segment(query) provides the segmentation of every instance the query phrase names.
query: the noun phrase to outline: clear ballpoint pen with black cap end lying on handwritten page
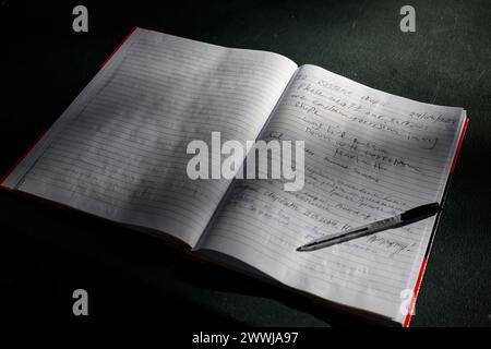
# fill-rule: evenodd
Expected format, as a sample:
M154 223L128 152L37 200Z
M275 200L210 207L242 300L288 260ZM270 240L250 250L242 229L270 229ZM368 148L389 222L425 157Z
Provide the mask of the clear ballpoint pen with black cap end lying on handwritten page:
M406 210L397 216L373 221L362 227L349 229L335 234L322 237L310 241L297 249L297 251L308 252L332 246L349 240L370 236L372 233L394 229L412 222L429 218L442 210L439 203L427 204Z

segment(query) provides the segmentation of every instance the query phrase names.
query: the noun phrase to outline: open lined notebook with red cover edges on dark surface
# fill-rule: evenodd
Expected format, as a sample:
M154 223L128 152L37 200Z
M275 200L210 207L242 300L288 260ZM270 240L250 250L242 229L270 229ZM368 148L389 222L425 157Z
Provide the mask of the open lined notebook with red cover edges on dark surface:
M313 238L442 203L465 110L277 53L135 28L2 186L407 325L438 217L309 253ZM191 180L192 140L306 143L306 182Z

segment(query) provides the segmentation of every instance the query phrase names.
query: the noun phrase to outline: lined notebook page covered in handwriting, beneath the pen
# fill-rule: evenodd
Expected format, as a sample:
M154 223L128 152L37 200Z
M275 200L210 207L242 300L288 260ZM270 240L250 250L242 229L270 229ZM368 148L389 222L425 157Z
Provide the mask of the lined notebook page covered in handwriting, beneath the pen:
M301 67L264 140L306 141L306 185L238 181L203 249L277 280L403 322L434 218L314 252L312 239L440 202L463 110L411 101Z

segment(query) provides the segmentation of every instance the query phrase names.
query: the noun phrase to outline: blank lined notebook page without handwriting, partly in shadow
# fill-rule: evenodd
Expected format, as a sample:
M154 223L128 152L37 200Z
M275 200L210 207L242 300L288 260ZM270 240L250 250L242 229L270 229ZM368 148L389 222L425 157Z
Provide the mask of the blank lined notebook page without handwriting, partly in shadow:
M254 140L296 68L136 29L7 185L192 246L229 182L190 180L188 143Z

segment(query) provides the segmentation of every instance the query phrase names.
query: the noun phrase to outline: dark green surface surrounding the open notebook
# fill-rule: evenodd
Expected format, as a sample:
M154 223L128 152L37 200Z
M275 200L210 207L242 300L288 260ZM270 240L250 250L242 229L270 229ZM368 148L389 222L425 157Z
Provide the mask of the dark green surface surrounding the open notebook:
M0 0L0 173L61 115L134 25L283 53L470 117L412 326L491 325L491 1ZM72 9L88 8L88 33ZM416 9L416 33L399 9ZM184 258L160 240L0 192L0 320L25 324L360 325ZM72 315L88 291L89 316Z

